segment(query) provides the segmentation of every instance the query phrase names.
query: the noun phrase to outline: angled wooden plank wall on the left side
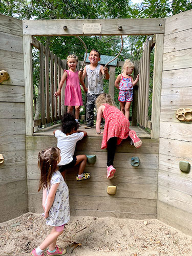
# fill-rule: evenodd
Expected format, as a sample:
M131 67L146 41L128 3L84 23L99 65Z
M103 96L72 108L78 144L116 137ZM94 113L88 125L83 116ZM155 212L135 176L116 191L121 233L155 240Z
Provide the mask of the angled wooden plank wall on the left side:
M28 209L25 152L25 103L22 20L0 14L0 222Z

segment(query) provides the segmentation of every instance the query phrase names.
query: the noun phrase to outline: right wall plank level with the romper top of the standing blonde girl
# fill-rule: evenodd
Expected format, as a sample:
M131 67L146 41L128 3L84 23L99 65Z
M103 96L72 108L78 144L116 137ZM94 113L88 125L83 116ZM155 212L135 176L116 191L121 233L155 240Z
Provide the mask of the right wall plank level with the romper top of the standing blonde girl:
M191 72L192 72L191 68L163 71L162 89L192 87Z

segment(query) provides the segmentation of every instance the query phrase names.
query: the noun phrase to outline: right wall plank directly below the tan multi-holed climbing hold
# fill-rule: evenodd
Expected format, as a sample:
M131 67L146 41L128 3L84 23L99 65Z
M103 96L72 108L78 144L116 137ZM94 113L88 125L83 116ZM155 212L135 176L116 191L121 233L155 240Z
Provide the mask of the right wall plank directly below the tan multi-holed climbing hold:
M160 122L160 137L192 142L191 123Z

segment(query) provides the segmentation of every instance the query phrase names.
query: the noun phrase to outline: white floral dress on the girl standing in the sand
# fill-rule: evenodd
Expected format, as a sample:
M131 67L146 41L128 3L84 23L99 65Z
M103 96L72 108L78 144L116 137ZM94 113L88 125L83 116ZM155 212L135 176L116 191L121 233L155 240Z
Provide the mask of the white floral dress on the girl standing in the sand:
M49 210L49 217L46 219L46 224L50 226L62 226L70 220L70 208L69 208L69 189L66 182L63 180L62 175L58 170L53 173L51 177L51 185L57 184L57 191L55 193L55 199ZM50 191L47 189L47 198ZM47 204L46 198L46 204Z

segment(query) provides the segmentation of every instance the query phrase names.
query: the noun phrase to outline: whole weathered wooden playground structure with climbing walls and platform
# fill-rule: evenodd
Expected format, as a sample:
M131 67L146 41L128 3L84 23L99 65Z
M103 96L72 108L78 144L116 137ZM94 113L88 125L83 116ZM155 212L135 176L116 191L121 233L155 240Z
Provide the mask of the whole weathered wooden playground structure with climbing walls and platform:
M192 174L191 170L181 172L179 165L181 161L192 162L192 126L191 122L179 121L175 114L180 108L192 108L189 76L192 71L192 10L155 19L22 21L0 14L0 20L0 70L9 73L9 79L0 83L0 154L4 157L0 164L0 221L27 211L42 211L42 195L37 193L38 152L57 143L53 136L55 126L36 133L34 127L60 119L63 97L57 101L53 92L66 62L33 36L155 35L152 119L148 120L147 116L147 70L152 42L148 43L140 60L135 111L136 122L142 127L151 127L151 134L136 124L132 126L143 145L136 149L129 139L123 141L115 156L115 178L106 180L106 151L100 150L102 137L89 131L88 137L78 142L76 154L96 155L96 162L87 164L86 171L92 175L88 181L77 182L74 170L66 174L71 214L157 218L191 235ZM89 33L83 26L89 28ZM41 62L41 118L38 120L33 118L32 46L39 50ZM109 93L112 96L114 71L115 68L110 67ZM139 157L138 167L131 165L132 157ZM106 193L108 185L117 186L114 196Z

